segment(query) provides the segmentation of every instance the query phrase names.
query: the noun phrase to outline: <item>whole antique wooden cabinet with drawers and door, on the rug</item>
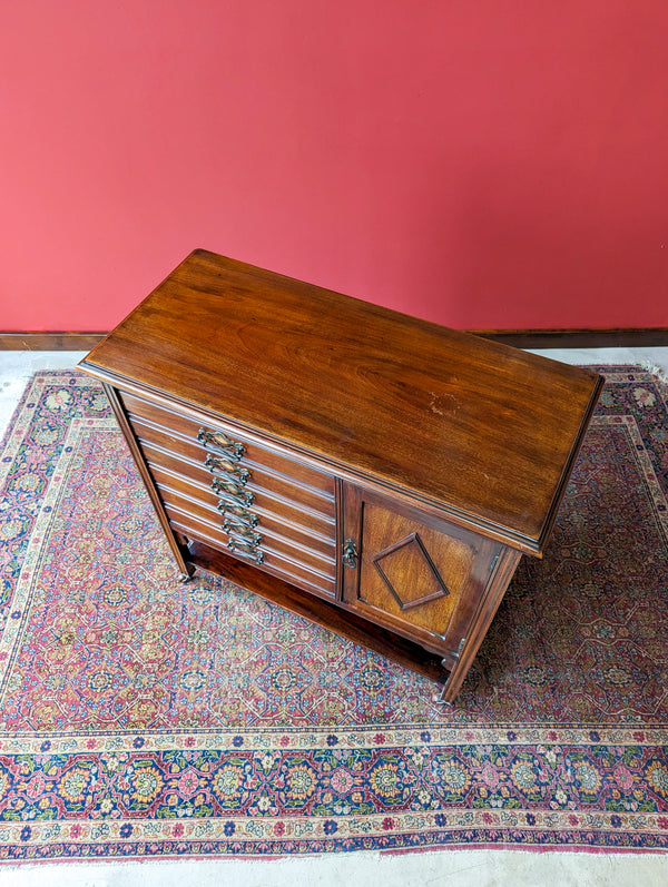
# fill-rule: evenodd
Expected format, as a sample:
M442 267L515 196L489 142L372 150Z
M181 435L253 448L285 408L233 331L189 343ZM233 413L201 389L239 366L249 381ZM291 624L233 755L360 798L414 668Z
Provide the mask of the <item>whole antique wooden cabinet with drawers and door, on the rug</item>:
M81 363L184 578L233 581L451 702L547 544L593 373L204 250Z

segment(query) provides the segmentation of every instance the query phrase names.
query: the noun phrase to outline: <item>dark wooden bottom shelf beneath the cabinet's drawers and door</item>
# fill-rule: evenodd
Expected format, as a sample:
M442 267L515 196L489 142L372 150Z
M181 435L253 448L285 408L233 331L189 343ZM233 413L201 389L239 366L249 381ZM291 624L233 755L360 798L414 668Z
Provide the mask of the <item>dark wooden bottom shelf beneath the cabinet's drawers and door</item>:
M373 650L393 662L399 662L432 681L442 684L448 679L449 672L444 670L441 657L334 603L306 594L281 579L263 573L252 564L243 563L202 542L193 541L188 543L184 556L187 564L222 575L236 585L259 594L285 610Z

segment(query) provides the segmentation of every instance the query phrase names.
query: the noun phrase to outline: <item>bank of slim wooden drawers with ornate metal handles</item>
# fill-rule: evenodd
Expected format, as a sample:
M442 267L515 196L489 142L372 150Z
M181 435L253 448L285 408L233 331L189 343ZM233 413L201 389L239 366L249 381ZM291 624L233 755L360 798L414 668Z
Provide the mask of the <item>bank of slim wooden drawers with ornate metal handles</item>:
M312 593L335 597L331 475L225 426L120 397L173 529Z

